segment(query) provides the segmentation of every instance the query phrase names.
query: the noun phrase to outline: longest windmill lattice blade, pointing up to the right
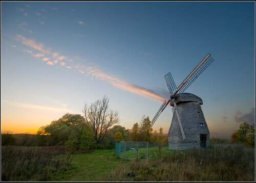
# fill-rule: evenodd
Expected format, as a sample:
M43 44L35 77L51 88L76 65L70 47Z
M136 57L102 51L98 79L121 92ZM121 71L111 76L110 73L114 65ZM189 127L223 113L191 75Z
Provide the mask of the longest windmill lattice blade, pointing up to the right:
M182 86L180 89L180 93L183 93L190 85L193 83L197 77L214 61L211 57L208 59L197 69L197 71L189 77L186 84Z

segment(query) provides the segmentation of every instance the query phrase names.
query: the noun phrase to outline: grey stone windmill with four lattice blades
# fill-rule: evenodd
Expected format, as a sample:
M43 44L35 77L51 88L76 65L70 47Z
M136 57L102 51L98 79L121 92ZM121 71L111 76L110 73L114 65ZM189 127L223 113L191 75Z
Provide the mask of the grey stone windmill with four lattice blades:
M170 72L164 76L170 93L170 99L167 102L164 100L153 118L151 126L154 125L161 112L170 103L173 111L173 119L168 133L169 149L184 150L193 147L208 146L209 129L200 107L203 101L198 96L191 93L184 93L184 91L213 61L214 59L210 57L210 54L207 54L195 69L188 74L178 88Z

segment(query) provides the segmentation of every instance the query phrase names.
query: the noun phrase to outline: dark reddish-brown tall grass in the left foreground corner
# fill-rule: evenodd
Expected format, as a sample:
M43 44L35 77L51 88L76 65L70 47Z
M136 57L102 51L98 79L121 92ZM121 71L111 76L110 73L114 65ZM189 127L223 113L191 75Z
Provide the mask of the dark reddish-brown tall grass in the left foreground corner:
M47 181L67 170L70 153L63 147L1 147L2 181Z

